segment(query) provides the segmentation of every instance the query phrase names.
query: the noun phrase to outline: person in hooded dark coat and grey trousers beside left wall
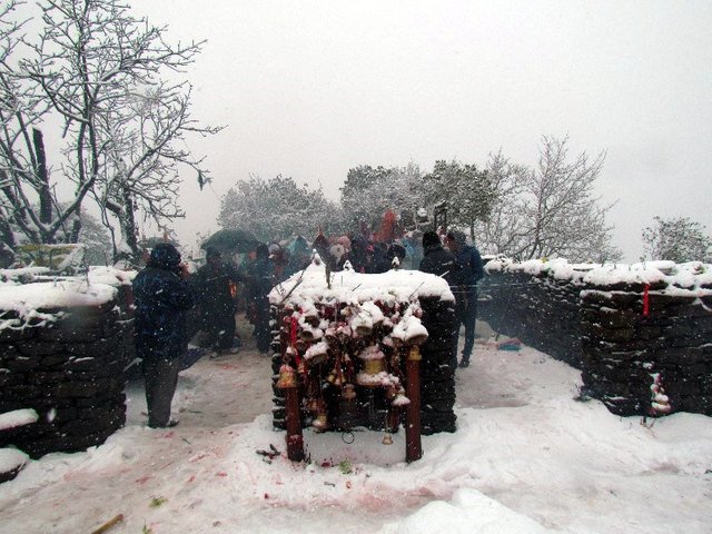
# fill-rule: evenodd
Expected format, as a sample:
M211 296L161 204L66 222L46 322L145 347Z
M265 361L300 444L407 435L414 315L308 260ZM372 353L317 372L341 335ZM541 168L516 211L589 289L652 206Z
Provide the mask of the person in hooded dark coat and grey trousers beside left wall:
M170 403L178 384L180 356L188 346L186 312L196 304L188 271L169 243L151 250L134 279L136 353L144 360L148 426L175 426Z

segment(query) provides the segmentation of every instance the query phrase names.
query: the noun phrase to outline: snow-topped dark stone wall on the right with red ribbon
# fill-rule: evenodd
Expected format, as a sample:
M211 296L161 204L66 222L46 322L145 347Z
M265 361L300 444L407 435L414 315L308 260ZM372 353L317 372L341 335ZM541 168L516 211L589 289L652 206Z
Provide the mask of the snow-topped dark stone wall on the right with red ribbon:
M614 414L712 415L710 266L490 266L479 318L580 368Z

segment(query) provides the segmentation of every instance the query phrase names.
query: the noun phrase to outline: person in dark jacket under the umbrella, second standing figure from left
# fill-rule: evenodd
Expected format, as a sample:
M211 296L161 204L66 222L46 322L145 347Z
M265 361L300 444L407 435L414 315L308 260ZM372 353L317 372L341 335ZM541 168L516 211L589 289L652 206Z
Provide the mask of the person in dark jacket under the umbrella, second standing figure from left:
M235 343L235 297L233 287L244 281L237 267L222 261L220 251L206 250L207 263L192 277L198 298L200 328L206 346L215 353L233 350Z

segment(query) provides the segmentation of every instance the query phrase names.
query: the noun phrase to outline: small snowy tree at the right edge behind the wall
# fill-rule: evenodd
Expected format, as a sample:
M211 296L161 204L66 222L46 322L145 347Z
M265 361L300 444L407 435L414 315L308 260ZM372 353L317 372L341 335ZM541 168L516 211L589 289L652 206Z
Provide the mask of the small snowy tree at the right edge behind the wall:
M705 235L704 226L700 222L689 217L654 217L653 220L655 225L643 229L642 235L649 259L712 261L712 239Z

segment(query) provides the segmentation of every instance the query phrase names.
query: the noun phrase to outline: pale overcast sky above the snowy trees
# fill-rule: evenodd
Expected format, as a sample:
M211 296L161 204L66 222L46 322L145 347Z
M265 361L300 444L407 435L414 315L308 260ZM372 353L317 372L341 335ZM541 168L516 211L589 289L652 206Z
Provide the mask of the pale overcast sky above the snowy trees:
M606 151L597 182L625 259L653 217L712 234L710 1L134 1L170 42L207 39L194 116L227 128L191 149L179 237L217 229L219 198L281 174L337 199L349 168L534 166L543 135Z

